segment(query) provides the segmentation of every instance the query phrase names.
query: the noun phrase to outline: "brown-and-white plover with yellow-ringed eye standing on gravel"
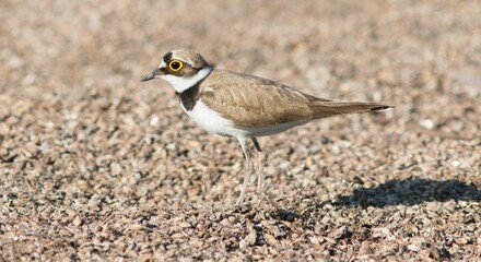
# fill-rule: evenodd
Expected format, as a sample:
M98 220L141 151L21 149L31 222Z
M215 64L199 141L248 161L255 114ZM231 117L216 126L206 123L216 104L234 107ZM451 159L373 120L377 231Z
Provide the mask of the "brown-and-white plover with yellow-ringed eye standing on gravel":
M254 164L247 148L257 153L257 192L263 193L266 154L258 136L286 131L313 120L361 112L378 112L394 106L366 102L319 98L263 78L215 69L191 49L171 50L141 82L162 79L175 90L187 116L208 132L235 138L244 153L245 174L235 205L242 205Z

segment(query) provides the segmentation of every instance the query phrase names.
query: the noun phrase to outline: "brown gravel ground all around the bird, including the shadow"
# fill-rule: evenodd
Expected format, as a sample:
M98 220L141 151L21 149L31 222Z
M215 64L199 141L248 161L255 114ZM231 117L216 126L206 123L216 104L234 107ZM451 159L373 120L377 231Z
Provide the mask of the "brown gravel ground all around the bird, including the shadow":
M0 2L0 261L481 260L479 1ZM218 68L386 114L260 139L243 156L174 91Z

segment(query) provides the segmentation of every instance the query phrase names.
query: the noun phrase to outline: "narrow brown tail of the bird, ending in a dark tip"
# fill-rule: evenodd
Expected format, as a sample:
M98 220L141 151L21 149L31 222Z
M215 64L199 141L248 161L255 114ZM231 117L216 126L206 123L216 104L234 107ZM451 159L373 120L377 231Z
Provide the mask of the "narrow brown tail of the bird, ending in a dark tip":
M328 118L338 115L387 111L394 106L365 102L316 100L309 104L313 119Z

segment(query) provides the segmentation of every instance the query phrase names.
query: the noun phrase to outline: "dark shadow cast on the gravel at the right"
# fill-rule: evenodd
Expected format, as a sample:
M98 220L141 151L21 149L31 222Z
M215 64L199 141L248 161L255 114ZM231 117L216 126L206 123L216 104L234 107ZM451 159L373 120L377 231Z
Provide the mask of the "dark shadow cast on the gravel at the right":
M481 201L481 190L472 182L455 179L430 180L409 178L390 180L375 188L355 189L350 195L338 195L336 205L384 207L388 205L417 205L424 202Z

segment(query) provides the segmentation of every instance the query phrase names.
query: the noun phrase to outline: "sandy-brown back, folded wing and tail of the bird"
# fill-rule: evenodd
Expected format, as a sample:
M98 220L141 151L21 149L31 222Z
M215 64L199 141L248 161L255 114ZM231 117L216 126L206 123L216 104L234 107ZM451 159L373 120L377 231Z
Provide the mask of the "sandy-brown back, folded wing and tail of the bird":
M305 123L336 115L387 109L372 103L337 102L303 94L254 75L213 70L200 85L202 102L239 128Z

